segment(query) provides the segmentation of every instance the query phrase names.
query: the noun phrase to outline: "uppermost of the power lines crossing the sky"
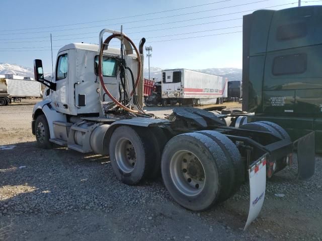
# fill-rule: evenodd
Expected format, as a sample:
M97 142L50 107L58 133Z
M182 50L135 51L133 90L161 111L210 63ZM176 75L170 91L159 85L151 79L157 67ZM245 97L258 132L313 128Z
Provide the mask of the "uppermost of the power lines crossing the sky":
M179 9L164 10L164 11L159 11L159 12L139 14L139 15L132 15L132 16L127 16L127 17L119 17L119 18L114 18L114 19L98 20L98 21L92 21L92 22L83 22L83 23L75 23L75 24L64 24L64 25L46 26L46 27L38 27L38 28L0 30L0 32L5 32L5 31L6 32L7 31L20 31L20 30L32 30L32 29L45 29L45 28L56 28L56 27L72 26L72 25L80 25L80 24L92 24L92 23L99 23L99 22L105 22L105 21L111 21L111 20L127 19L127 18L134 18L134 17L146 16L146 15L151 15L151 14L160 14L160 13L172 12L172 11L183 10L183 9L191 9L191 8L202 7L202 6L212 5L212 4L219 4L219 3L224 3L224 2L230 2L230 1L232 1L232 0L223 0L223 1L219 1L219 2L212 2L212 3L208 3L208 4L194 5L194 6L184 7L184 8L179 8Z

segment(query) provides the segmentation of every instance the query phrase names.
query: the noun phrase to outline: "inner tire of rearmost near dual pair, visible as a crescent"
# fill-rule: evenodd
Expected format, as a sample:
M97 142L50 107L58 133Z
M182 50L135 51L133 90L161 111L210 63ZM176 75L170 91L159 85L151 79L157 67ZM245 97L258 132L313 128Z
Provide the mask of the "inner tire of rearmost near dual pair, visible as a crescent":
M200 131L202 135L211 138L215 143L219 145L221 150L225 153L229 164L230 175L232 176L231 186L226 192L222 193L220 200L225 201L240 188L241 184L245 181L245 167L241 162L240 153L236 145L225 135L215 131Z

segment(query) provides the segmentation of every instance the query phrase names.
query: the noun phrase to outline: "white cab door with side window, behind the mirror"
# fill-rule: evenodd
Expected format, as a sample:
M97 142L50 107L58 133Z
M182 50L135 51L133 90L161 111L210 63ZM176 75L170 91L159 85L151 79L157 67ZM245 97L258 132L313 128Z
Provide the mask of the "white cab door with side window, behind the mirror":
M68 50L60 52L56 62L56 91L53 91L53 104L59 112L69 114L68 106Z

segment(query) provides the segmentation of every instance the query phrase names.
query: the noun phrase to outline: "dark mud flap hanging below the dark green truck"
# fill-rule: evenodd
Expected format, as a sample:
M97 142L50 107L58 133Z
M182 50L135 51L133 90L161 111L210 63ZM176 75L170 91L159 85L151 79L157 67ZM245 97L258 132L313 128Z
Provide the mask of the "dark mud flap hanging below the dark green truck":
M294 142L297 146L297 178L306 180L313 176L315 169L315 142L314 132L310 132L304 137Z

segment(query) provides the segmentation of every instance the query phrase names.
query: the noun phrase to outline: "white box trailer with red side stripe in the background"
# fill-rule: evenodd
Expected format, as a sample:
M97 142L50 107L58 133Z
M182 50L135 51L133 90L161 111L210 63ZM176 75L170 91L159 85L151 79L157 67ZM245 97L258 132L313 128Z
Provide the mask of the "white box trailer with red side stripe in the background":
M227 78L189 69L162 71L162 104L215 104L227 97Z

